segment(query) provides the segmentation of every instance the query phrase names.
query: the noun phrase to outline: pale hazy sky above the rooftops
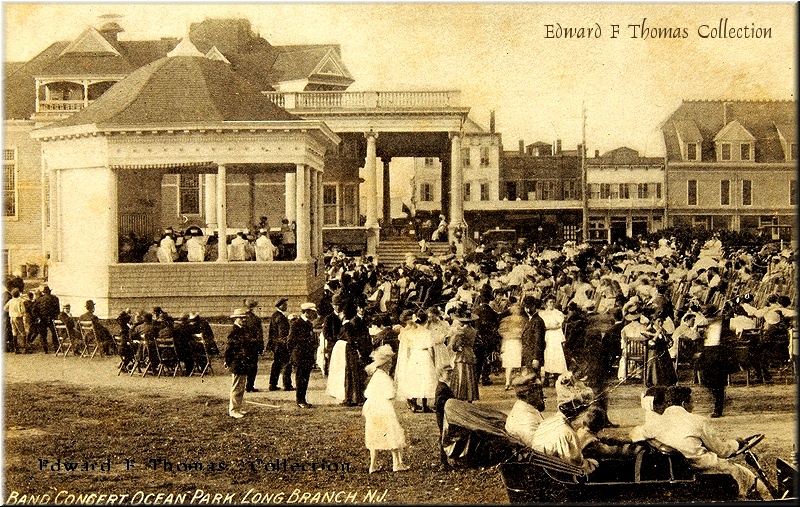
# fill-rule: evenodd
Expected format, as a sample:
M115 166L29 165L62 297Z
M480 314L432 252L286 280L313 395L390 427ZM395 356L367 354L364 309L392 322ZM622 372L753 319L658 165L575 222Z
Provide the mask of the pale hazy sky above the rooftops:
M460 90L478 124L488 128L495 111L506 150L519 140L556 139L574 149L585 109L590 156L621 146L662 156L660 124L681 100L796 100L796 9L744 2L4 2L3 50L4 61L28 60L99 27L103 14L122 16L123 40L180 37L205 18L244 17L273 45L339 44L355 78L350 90ZM721 20L728 29L769 29L771 37L701 37ZM558 37L559 26L584 37ZM644 38L642 26L679 37Z

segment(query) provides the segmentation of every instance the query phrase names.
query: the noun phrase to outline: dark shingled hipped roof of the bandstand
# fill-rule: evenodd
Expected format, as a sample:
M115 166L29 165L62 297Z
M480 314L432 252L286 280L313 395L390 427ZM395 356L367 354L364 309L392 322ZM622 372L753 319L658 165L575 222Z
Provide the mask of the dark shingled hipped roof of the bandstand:
M136 70L86 109L53 127L295 119L298 118L236 75L229 65L205 57L175 56Z

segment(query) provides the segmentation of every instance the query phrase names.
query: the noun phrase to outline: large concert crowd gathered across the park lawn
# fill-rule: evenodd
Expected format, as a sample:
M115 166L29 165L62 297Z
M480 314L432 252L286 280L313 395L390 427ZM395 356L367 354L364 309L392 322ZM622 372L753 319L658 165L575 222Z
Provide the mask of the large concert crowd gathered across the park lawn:
M480 386L490 385L490 373L497 370L505 389L517 392L508 422L520 440L542 452L570 455L574 449L543 444L548 440L542 434L574 431L589 435L584 440L594 442L597 452L616 452L597 439L600 429L615 426L607 417L614 385L638 378L648 387L673 389L679 365L688 364L713 396L712 417L720 417L731 373L747 366L756 383L768 383L770 370L797 360L790 340L796 326L795 255L769 245L726 247L718 237L688 243L661 238L636 249L572 242L560 249L524 242L479 245L466 256L412 253L398 266L329 252L320 300L303 303L298 315L288 314L287 299L279 298L266 340L262 320L253 312L257 302L245 300L231 316L224 352L233 374L229 415L244 416L244 393L258 391L258 359L270 350L269 390L294 390L298 406L311 408L306 392L311 371L318 368L328 395L345 406L363 406L371 471L377 450L391 450L394 468L401 470L402 428L389 417L391 438L376 438L373 412L388 413L385 401L395 396L415 413L433 412L443 384L456 399L479 400ZM23 303L18 290L10 294L4 310L23 351L32 336L42 336L46 346L55 318L48 298L52 295L44 289L31 298L41 300L42 309L34 310L39 317L29 326L25 307L37 304ZM182 343L186 372L197 357L188 352L191 337L210 333L207 323L207 331L193 327L198 321L192 314L173 322L159 308L136 316L123 312L118 319L128 338L169 333L176 347ZM744 337L747 365L734 355ZM213 342L213 334L208 339ZM141 347L131 350L130 364L147 353ZM117 352L124 356L119 346ZM539 390L556 387L561 419L542 420L543 399L531 388L537 384ZM683 396L676 405L688 403L685 392L675 396ZM584 405L592 410L573 424L576 407ZM387 417L381 424L389 424ZM585 457L578 464L587 471L594 466ZM752 489L749 477L731 473L743 489Z

